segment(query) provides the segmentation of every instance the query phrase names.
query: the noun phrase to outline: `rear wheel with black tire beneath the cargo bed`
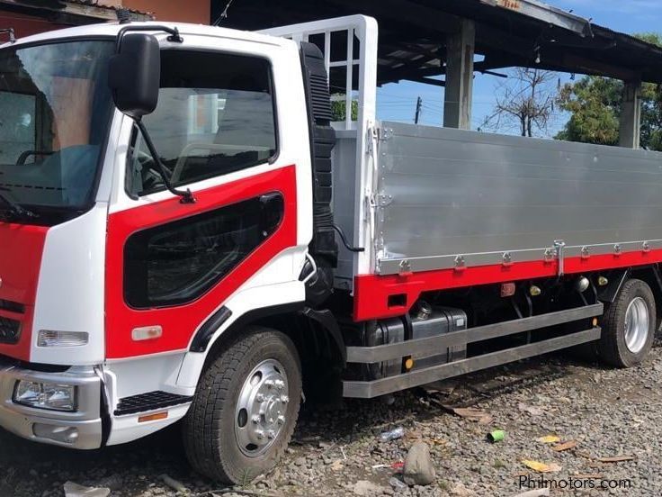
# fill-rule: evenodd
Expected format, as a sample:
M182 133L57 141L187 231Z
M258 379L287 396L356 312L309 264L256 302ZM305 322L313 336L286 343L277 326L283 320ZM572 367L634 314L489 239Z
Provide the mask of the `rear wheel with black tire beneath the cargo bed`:
M600 358L616 367L639 365L648 357L655 339L656 304L649 285L631 279L604 312Z

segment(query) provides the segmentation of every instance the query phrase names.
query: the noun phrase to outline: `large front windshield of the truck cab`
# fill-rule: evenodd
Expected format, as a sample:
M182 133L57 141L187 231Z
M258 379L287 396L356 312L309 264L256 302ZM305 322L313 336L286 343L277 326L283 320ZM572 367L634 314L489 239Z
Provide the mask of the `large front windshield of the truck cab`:
M91 203L113 53L112 41L0 50L0 194L9 202L38 214Z

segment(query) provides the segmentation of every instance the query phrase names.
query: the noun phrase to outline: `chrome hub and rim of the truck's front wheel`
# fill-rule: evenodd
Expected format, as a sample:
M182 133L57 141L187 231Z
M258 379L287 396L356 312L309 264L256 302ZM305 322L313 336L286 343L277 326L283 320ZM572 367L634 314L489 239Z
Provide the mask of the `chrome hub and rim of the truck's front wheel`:
M246 377L235 412L235 436L241 451L260 456L278 438L287 421L288 383L285 368L267 359Z

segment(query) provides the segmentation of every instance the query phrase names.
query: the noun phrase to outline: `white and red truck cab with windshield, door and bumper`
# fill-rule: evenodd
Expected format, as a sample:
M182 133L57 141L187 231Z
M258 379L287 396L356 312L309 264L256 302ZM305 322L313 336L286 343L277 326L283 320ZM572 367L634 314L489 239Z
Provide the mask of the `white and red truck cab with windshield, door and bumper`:
M113 104L122 28L0 50L0 424L66 447L180 419L219 326L305 293L311 159L298 47L188 25L169 26L180 33L170 41L155 25L158 104L141 124L166 182Z

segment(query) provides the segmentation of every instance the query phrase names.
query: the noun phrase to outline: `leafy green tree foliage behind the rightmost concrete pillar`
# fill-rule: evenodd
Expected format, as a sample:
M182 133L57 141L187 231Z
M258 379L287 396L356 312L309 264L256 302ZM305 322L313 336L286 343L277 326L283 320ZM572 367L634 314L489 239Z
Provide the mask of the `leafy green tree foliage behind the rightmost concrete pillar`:
M647 33L638 38L662 46L662 37ZM587 76L563 86L559 107L570 113L557 140L617 145L623 83L608 77ZM641 146L662 150L662 87L646 83L641 87Z

